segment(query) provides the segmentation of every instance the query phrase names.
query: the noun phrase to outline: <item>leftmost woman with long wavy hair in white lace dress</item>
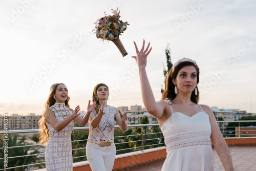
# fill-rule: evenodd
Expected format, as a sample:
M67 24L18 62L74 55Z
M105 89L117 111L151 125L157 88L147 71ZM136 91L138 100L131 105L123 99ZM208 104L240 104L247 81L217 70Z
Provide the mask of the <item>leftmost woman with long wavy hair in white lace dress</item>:
M88 104L87 114L81 118L78 111L69 108L68 89L63 83L53 84L46 103L46 111L39 120L40 143L46 146L46 170L73 170L71 133L73 120L85 125L96 103Z

